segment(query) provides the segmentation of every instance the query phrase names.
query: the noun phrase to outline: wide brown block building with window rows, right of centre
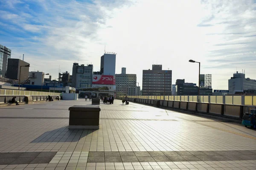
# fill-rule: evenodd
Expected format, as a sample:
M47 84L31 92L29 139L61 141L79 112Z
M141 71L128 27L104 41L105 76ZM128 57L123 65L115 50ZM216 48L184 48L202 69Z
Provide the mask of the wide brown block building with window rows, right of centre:
M152 70L143 70L142 95L171 95L172 70L162 70L162 65L152 65Z

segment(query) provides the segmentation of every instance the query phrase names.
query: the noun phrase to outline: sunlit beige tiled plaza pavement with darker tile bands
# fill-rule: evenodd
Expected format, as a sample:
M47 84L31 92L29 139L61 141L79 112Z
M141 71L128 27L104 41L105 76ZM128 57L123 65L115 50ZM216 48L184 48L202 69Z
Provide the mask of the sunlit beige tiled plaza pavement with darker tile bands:
M100 105L99 130L69 130L68 108L89 104L0 108L0 170L256 169L255 130L118 100Z

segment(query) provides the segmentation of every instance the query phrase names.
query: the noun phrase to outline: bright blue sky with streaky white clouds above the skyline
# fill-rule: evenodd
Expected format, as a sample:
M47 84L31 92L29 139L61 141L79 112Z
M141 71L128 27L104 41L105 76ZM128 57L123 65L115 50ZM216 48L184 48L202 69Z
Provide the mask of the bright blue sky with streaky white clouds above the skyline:
M0 44L53 79L73 62L99 71L106 49L140 86L152 64L197 83L193 59L225 90L236 71L256 79L256 0L0 0Z

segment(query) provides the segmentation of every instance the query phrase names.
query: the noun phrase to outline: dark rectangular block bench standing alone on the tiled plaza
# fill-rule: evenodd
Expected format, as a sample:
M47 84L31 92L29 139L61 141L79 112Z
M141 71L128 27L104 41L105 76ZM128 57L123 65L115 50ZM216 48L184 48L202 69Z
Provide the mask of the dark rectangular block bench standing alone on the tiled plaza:
M69 129L99 129L99 106L75 105L68 110Z

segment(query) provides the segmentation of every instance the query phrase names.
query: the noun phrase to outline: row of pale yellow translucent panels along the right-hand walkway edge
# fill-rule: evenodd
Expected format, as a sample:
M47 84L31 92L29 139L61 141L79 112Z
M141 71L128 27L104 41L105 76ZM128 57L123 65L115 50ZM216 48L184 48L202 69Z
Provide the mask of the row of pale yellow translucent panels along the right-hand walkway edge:
M136 99L158 99L184 102L256 106L256 96L128 96Z

